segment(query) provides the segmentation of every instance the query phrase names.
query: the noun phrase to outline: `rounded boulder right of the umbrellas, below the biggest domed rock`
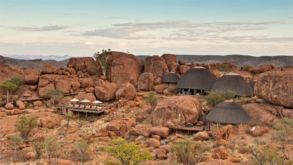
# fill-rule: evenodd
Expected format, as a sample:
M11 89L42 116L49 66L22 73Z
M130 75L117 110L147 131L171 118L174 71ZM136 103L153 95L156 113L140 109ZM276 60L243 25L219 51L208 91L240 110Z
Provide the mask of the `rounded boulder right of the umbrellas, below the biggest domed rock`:
M123 83L119 86L115 96L117 100L134 100L136 98L136 91L132 84Z

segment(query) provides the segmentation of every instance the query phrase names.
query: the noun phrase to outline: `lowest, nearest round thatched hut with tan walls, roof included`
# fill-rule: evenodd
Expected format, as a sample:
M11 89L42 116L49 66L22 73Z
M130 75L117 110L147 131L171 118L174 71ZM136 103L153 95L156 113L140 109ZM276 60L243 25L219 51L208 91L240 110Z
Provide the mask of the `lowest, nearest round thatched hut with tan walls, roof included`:
M232 100L226 100L217 104L207 114L212 132L220 130L227 125L233 126L233 134L243 134L251 122L249 114L239 104Z

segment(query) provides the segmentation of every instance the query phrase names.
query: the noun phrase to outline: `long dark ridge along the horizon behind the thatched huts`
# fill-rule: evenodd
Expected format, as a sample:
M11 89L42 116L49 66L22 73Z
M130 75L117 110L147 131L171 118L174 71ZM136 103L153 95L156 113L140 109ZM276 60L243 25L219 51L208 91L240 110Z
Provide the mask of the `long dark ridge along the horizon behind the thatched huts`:
M136 56L139 59L146 59L147 56ZM293 56L261 56L261 57L254 57L254 56L246 56L246 55L176 55L177 60L183 60L187 64L191 62L194 63L205 63L205 64L212 64L212 63L222 63L225 61L231 61L232 64L236 65L236 67L241 67L245 65L249 66L260 66L263 64L270 64L274 63L275 67L283 67L288 65L293 65Z

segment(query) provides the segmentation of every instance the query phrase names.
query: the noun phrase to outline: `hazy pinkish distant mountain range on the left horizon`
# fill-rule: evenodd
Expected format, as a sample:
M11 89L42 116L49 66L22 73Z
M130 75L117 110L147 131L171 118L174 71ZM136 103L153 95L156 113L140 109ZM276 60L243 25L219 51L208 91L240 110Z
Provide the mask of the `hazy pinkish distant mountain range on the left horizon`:
M43 56L43 55L11 55L11 54L0 54L3 57L9 57L9 58L14 58L14 59L42 59L42 60L56 60L56 61L62 61L64 59L69 59L70 57L73 56ZM86 57L86 56L81 56L81 57Z

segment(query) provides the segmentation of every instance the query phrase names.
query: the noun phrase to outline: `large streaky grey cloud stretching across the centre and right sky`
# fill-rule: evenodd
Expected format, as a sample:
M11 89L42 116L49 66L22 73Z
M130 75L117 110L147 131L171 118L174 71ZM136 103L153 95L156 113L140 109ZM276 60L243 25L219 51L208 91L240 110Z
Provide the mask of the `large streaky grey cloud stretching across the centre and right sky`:
M113 17L119 19L120 17ZM127 18L128 19L128 18ZM102 36L108 38L122 39L148 39L162 38L166 40L187 40L196 41L208 39L210 35L214 38L215 35L233 32L233 31L254 31L269 29L270 25L287 24L286 20L272 22L251 22L251 21L230 21L230 22L199 22L195 23L190 20L168 20L157 22L128 22L112 24L111 27L99 28L82 33L84 36ZM150 31L160 30L168 31L175 30L175 33L168 36L155 36ZM211 33L211 34L209 34ZM229 38L220 38L227 40ZM210 40L210 39L209 39ZM240 40L240 39L238 39ZM263 42L270 42L273 39L265 39ZM277 39L275 39L277 40ZM281 38L280 40L283 40ZM234 39L236 42L236 39Z

